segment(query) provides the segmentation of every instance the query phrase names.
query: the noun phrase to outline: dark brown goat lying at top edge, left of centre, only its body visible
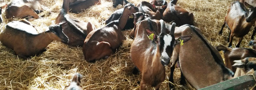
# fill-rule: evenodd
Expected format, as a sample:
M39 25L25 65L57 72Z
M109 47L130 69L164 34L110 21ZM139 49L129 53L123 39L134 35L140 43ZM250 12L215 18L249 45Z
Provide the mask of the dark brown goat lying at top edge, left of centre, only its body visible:
M81 13L93 5L100 5L100 0L77 0L69 4L69 12Z

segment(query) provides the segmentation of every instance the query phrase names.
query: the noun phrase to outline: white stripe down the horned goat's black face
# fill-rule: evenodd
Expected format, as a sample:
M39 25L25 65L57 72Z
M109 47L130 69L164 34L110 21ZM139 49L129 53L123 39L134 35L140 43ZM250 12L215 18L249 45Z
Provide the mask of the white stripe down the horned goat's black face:
M164 46L163 46L162 57L165 58L165 59L170 59L170 57L169 57L168 54L166 53L166 48L171 45L172 36L171 36L171 35L165 35L165 36L163 37L163 40L164 40L165 44L164 44ZM166 62L164 59L162 59L162 61L163 61L163 62Z

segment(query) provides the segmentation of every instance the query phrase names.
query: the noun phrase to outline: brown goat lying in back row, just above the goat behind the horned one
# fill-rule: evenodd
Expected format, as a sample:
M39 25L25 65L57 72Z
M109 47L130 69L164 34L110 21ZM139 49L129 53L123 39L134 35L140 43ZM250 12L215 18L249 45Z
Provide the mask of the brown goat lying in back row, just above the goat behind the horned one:
M150 4L149 2L142 1L140 4L137 5L139 8L139 12L143 12L145 14L149 14L149 16L152 16L154 19L162 19L163 14L161 14L158 9L161 9L162 7L156 8L155 5Z

